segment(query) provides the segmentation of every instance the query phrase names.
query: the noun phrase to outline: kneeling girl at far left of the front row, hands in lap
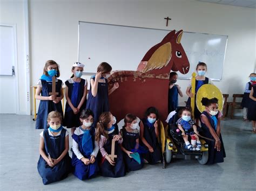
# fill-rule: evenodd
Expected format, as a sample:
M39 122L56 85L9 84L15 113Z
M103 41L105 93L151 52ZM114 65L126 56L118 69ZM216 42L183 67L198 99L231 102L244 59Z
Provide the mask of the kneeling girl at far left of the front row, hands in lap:
M60 181L71 172L69 133L61 125L62 115L51 111L47 122L49 129L40 133L40 157L37 162L38 173L44 185Z

